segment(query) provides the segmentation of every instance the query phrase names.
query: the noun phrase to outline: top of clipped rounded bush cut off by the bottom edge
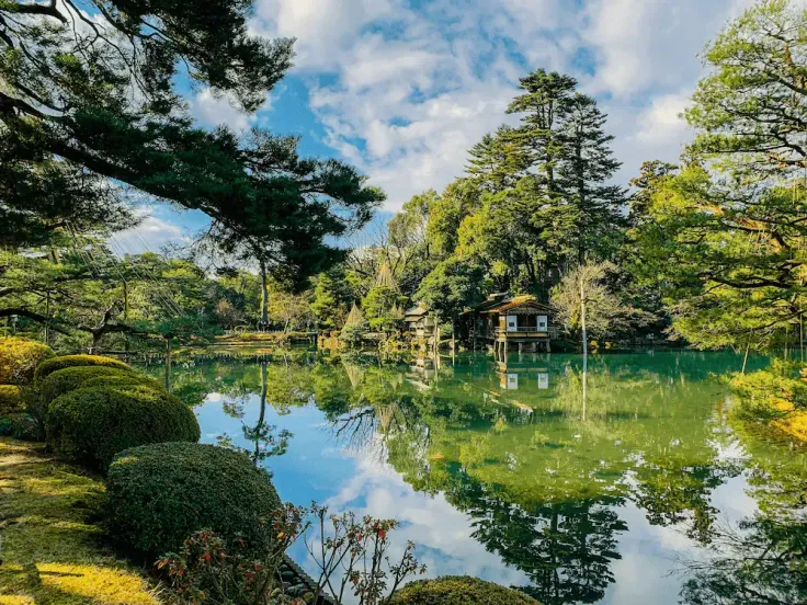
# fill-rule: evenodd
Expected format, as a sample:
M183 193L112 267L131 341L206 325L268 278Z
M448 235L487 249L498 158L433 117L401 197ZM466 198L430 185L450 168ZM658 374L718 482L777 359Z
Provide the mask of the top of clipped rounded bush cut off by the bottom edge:
M531 596L468 575L407 584L390 605L541 605Z

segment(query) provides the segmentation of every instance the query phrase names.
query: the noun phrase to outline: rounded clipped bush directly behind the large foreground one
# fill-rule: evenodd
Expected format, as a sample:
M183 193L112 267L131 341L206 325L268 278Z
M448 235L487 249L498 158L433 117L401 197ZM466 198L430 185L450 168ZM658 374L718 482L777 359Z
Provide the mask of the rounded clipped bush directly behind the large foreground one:
M54 399L46 433L57 455L105 470L115 454L128 447L196 442L200 427L191 409L162 389L98 386Z

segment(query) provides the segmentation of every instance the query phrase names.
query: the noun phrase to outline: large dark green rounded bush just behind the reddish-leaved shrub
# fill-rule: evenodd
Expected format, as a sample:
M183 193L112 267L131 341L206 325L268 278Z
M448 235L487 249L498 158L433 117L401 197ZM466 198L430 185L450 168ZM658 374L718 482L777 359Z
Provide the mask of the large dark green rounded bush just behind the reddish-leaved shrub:
M194 532L271 539L281 506L269 475L239 452L209 444L160 443L121 452L106 482L110 533L151 556L178 551Z

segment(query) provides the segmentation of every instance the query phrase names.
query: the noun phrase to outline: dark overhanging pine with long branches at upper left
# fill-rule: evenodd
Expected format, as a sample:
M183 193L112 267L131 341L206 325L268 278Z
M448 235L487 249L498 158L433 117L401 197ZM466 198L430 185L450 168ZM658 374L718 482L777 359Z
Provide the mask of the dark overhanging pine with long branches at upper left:
M175 90L187 78L253 112L293 41L249 35L250 0L87 3L92 18L71 0L0 3L0 153L24 158L0 170L4 239L42 241L81 208L115 217L104 185L120 182L204 212L223 249L248 243L300 282L338 260L325 238L364 225L383 194L352 167L299 158L295 137L195 127ZM54 172L72 186L48 184Z

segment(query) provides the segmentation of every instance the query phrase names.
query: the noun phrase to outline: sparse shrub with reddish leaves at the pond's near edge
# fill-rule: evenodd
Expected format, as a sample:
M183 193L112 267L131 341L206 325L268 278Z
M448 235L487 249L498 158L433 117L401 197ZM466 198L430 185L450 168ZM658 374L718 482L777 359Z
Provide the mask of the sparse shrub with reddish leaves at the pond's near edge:
M346 605L344 600L351 594L351 602L359 605L386 605L407 577L425 572L425 566L414 558L412 543L397 562L390 561L387 534L399 526L394 520L365 516L360 521L353 513L330 515L327 507L317 504L310 509L286 504L269 524L271 532L262 545L238 537L228 543L211 529L189 536L181 552L168 553L156 563L168 575L169 601L183 605L305 605L328 590L337 605ZM309 532L311 527L317 533ZM308 598L288 594L287 582L284 586L284 574L289 573L284 553L304 535L319 570Z

